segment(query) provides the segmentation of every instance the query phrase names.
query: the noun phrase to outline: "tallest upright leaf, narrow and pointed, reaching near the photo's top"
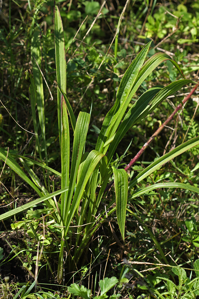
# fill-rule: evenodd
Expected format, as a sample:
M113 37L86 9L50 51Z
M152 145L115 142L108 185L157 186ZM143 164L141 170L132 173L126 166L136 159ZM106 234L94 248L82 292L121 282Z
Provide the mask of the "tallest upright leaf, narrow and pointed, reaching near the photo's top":
M66 94L66 54L64 45L64 30L61 21L61 16L57 5L54 7L54 36L55 36L55 62L57 84ZM59 128L59 143L61 149L61 93L57 90L57 109L58 109L58 128Z

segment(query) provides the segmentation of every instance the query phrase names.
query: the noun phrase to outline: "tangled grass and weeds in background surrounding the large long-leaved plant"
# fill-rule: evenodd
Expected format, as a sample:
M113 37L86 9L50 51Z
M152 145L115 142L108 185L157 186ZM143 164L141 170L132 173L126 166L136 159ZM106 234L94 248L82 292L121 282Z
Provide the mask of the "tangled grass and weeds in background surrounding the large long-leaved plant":
M63 188L60 173L63 175L64 158L60 154L58 88L54 82L58 82L55 4L63 23L67 64L67 80L64 80L75 122L79 112L91 112L86 152L95 149L125 71L150 40L146 59L157 52L169 55L186 79L195 82L198 82L199 69L198 0L1 2L0 147L5 157L9 149L7 161L10 159L15 167L20 164L33 184L40 186L43 196ZM42 82L44 86L44 106L33 105L30 82L24 75L26 70L33 73L37 68L34 57L40 57L38 49L41 49L41 61L36 60L44 77L38 72L40 83L37 84ZM169 60L161 62L141 83L127 108L149 88L167 86L179 79L177 68ZM193 86L195 83L190 82L175 91L175 95L169 95L146 118L132 126L118 144L110 166L125 168ZM198 105L196 90L183 111L175 115L129 168L129 181L162 155L198 136ZM71 118L68 135L71 155L73 121ZM38 141L31 134L35 132ZM3 215L38 199L38 192L14 171L14 166L4 164L2 155L1 152ZM139 191L158 183L198 187L198 158L196 145L150 173L134 188ZM70 165L71 160L70 157ZM112 173L109 177L111 182ZM52 202L39 202L24 212L13 212L9 218L2 216L1 297L197 298L199 218L198 193L194 190L157 187L136 197L129 190L133 199L127 203L123 240L115 211L115 190L110 186L99 203L99 214L95 215L97 226L91 227L92 237L84 246L77 243L77 236L81 241L87 229L76 228L84 207L74 210L75 217L65 236L59 225L60 215L55 213L61 207L58 193ZM98 192L96 189L96 196ZM86 217L87 214L83 218ZM64 247L60 256L63 236L67 237L68 248ZM64 269L63 273L59 269Z

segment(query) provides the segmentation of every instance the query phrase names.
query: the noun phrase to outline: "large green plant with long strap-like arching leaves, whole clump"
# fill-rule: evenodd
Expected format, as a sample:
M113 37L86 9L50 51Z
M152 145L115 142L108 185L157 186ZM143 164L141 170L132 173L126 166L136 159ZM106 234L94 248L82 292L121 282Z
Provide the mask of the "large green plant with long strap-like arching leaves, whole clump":
M40 144L38 138L38 124L36 122L36 103L38 106L39 125L43 143L45 144L45 123L44 123L44 95L43 83L40 72L41 47L39 44L39 33L34 33L32 38L31 52L33 57L33 75L30 70L25 72L29 84L30 100L33 114L33 124L36 136L36 145L39 161L7 153L0 149L0 157L6 164L26 181L38 194L39 198L21 207L10 210L0 216L0 220L7 219L19 212L29 209L36 204L45 201L47 208L50 209L54 221L60 227L61 241L58 259L58 281L63 278L63 255L64 250L70 253L71 246L74 245L72 257L68 254L68 269L73 271L80 260L85 247L90 242L91 237L98 229L107 216L115 212L117 215L118 226L121 236L124 239L125 218L127 202L133 198L145 194L155 188L184 188L199 193L199 188L187 184L162 183L155 184L142 190L136 189L136 184L147 178L163 164L199 144L199 137L195 137L180 146L176 147L166 155L158 158L146 169L139 173L132 181L128 182L128 175L124 169L117 169L110 166L115 149L126 132L139 120L150 114L166 97L174 94L187 84L195 84L192 80L187 80L178 64L164 53L157 53L150 57L146 62L146 56L151 42L146 44L140 53L130 64L125 72L120 86L118 87L116 100L113 107L107 113L102 124L100 134L95 149L86 152L86 139L90 123L90 114L80 112L76 120L70 102L66 96L66 58L64 49L64 33L61 16L58 7L54 9L54 34L55 34L55 61L57 74L57 104L58 104L58 128L61 146L61 174L48 167L42 161ZM179 71L182 80L170 83L168 86L155 86L148 89L127 111L132 97L138 90L146 77L162 62L170 60ZM37 62L35 64L35 62ZM34 77L33 77L34 76ZM70 120L69 120L69 117ZM122 121L122 122L121 122ZM70 125L73 131L73 141L70 140ZM72 146L72 157L70 148ZM46 146L45 146L46 148ZM106 155L107 154L107 155ZM47 161L47 150L45 149ZM28 172L28 177L16 159L19 159ZM27 162L32 162L61 177L61 190L50 193L49 180L45 181L45 186L30 168ZM106 187L110 177L114 176L115 198L106 206L106 209L98 215L99 205L106 195ZM48 175L47 175L48 176ZM98 188L98 186L100 188ZM131 196L128 197L128 190L134 188ZM99 191L98 191L99 190ZM61 195L59 201L55 196ZM116 203L114 207L112 205ZM72 224L75 224L72 227ZM84 229L83 229L84 228ZM72 244L72 236L75 231L75 244ZM158 246L158 244L157 244ZM160 247L160 246L159 246ZM161 247L158 248L161 253ZM164 255L162 255L164 256Z

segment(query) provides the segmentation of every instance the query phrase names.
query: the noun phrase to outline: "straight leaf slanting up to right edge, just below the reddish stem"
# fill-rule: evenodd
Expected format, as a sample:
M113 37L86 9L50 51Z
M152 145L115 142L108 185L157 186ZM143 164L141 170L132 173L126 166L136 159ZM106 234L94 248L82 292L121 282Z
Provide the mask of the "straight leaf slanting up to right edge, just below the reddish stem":
M129 183L129 189L131 189L133 186L135 186L140 181L145 179L147 176L149 176L151 173L153 173L155 170L160 168L163 164L165 164L169 160L172 160L176 156L182 154L183 152L186 152L188 149L190 149L198 144L199 144L199 137L192 138L189 141L186 141L185 143L179 145L175 149L172 149L170 152L166 153L162 157L158 158L155 162L153 162L148 167L146 167L141 173L139 173L135 177L135 179L133 179Z

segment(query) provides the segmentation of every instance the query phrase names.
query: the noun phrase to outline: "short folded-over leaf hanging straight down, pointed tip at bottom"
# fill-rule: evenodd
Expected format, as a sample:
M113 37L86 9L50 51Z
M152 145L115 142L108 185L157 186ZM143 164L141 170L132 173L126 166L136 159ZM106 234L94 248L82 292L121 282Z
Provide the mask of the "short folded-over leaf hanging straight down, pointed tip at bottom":
M124 240L127 197L128 197L128 175L124 169L112 167L114 174L115 198L116 198L116 215L119 229Z

